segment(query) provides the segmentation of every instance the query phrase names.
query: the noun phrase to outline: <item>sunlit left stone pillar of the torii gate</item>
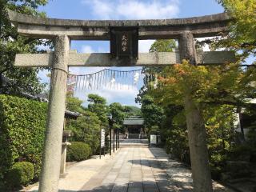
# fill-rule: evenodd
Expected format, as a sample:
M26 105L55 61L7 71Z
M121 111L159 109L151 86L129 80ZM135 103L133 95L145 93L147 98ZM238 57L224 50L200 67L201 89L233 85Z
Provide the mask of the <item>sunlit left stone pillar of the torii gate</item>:
M48 104L39 192L58 191L69 50L70 39L66 35L57 36L55 38L54 63L50 78L50 101Z

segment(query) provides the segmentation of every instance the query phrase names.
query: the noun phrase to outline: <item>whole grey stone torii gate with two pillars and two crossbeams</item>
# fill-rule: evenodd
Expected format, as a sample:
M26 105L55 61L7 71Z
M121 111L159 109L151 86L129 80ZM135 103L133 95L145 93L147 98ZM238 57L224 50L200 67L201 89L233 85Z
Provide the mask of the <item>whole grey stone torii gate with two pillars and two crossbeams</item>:
M15 59L15 66L52 68L46 138L39 182L40 192L58 191L68 66L166 66L181 63L182 59L188 59L194 65L234 61L233 53L227 51L197 53L194 46L194 38L211 37L227 31L230 22L227 14L162 20L82 21L38 18L9 11L9 18L17 26L19 34L29 38L54 39L55 42L54 53L17 54ZM137 41L177 38L179 53L148 53L138 54L138 58L118 59L111 58L110 54L77 54L70 51L70 40L110 40L112 27L136 28ZM189 90L184 103L194 191L210 192L212 182L206 130L202 115L194 105Z

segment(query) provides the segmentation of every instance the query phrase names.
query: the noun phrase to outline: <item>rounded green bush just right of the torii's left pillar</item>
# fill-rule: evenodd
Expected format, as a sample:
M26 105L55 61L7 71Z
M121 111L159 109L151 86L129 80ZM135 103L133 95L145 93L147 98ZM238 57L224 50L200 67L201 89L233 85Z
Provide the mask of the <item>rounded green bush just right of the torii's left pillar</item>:
M90 146L84 142L71 142L67 147L66 160L68 162L79 162L89 158L91 155Z

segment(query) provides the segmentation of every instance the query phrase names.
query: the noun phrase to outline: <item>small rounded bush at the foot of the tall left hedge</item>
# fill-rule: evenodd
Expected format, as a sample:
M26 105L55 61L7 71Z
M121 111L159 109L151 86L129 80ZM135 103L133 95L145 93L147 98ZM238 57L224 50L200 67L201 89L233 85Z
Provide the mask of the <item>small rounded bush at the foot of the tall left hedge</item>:
M34 178L34 166L30 162L16 162L6 175L8 186L26 186Z

